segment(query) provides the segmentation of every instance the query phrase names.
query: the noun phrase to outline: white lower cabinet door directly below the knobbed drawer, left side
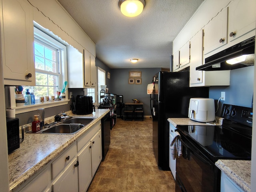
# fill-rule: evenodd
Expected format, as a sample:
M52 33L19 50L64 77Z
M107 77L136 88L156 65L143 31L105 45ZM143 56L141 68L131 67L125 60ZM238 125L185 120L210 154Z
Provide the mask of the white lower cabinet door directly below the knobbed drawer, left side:
M78 192L78 168L76 158L52 184L53 192Z

